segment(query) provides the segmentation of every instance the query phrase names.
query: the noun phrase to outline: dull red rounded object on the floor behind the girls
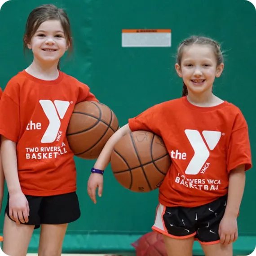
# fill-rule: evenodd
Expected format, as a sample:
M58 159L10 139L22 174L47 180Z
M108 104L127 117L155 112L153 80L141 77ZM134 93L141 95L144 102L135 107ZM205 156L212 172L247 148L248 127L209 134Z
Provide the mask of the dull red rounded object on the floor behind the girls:
M137 256L167 256L163 236L156 232L149 232L132 243Z

